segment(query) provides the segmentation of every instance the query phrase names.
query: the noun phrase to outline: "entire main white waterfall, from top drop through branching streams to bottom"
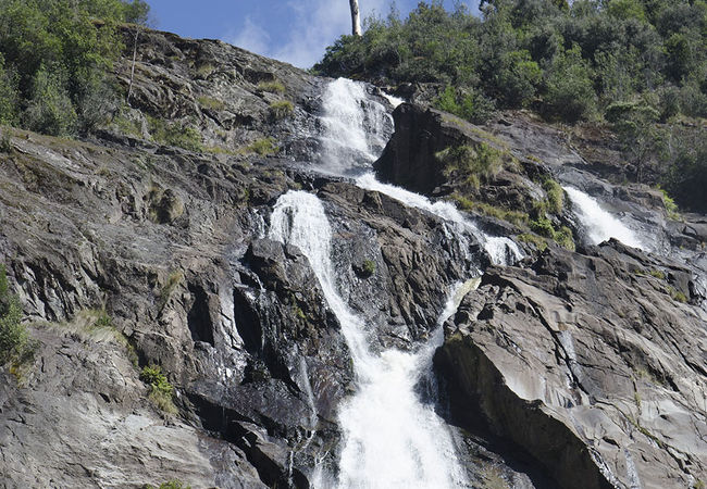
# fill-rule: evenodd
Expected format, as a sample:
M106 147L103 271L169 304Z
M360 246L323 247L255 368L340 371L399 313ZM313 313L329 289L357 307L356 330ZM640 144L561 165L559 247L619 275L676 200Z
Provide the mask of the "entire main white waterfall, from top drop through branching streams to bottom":
M388 99L390 104L399 100ZM475 256L472 236L485 247L494 263L508 264L520 258L518 246L504 237L491 237L466 218L449 202L427 198L377 181L372 163L393 130L389 108L367 93L362 84L332 82L323 96L322 153L318 170L337 176L358 177L361 188L393 199L445 222L445 233L467 253L469 269ZM306 191L282 196L271 216L269 237L298 247L308 258L328 306L342 325L349 347L357 392L343 403L338 424L344 435L338 477L327 479L321 467L312 474L314 486L340 488L456 488L466 487L451 436L435 413L435 399L422 399L420 384L434 384L432 358L444 341L441 325L455 313L463 296L479 279L451 287L438 327L426 343L412 352L370 348L368 328L342 298L337 271L331 260L332 228L322 202ZM477 271L475 271L477 273ZM431 389L435 390L435 389Z

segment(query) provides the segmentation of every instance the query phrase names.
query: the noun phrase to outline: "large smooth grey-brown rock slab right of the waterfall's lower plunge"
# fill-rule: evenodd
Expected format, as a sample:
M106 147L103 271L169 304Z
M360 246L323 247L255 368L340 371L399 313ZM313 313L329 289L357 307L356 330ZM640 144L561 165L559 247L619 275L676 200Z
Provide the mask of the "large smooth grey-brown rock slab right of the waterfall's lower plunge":
M562 487L704 479L707 317L671 287L697 299L687 271L617 241L487 268L437 356L452 417Z

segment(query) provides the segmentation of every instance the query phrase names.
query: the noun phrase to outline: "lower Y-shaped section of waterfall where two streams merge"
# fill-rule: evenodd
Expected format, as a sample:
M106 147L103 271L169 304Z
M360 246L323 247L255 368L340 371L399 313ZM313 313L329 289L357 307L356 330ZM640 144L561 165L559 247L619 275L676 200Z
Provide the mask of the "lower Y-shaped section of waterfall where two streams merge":
M432 368L432 355L443 340L442 328L414 353L388 350L376 356L371 352L363 321L338 293L330 258L332 229L315 196L305 191L282 196L271 217L270 238L298 247L308 258L351 351L358 392L338 415L344 432L338 486L462 487L462 469L447 428L415 392L421 376ZM469 284L474 283L468 283L466 289L455 288L439 324L454 314L470 290Z

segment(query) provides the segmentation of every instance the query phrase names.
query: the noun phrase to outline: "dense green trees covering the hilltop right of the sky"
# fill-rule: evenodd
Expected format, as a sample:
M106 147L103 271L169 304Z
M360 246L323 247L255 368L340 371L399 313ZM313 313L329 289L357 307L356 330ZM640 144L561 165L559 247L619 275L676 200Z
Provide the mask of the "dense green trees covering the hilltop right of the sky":
M420 2L402 20L395 11L370 18L361 37L342 36L314 70L437 83L447 88L436 105L468 120L482 118L479 101L491 100L573 123L652 92L663 117L707 116L704 0L482 3L481 20L462 2L446 11L441 1Z

